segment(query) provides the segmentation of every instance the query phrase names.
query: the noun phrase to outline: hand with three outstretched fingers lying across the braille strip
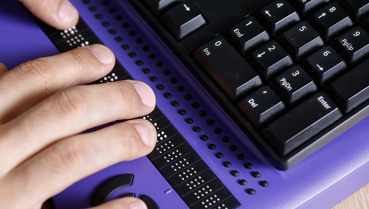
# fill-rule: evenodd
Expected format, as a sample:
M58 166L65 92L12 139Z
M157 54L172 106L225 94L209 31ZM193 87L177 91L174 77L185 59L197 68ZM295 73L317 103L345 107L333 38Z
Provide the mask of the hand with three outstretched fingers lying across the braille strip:
M39 209L74 182L152 151L156 131L142 119L78 134L154 109L155 95L141 82L77 86L105 76L114 63L102 45L29 61L9 72L0 63L0 208ZM147 207L137 198L121 198L96 208Z

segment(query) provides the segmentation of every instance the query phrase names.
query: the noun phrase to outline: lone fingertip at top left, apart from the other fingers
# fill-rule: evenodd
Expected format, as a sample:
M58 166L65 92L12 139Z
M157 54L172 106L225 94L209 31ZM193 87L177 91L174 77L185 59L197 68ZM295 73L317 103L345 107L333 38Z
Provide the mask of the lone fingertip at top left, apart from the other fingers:
M78 22L78 11L68 0L18 0L37 18L57 29L67 29Z

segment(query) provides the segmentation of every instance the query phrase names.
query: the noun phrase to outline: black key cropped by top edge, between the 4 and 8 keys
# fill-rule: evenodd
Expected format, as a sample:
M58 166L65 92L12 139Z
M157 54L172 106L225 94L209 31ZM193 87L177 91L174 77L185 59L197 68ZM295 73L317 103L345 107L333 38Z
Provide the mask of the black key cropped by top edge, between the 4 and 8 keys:
M307 17L329 0L289 0L289 2L296 8L300 17Z

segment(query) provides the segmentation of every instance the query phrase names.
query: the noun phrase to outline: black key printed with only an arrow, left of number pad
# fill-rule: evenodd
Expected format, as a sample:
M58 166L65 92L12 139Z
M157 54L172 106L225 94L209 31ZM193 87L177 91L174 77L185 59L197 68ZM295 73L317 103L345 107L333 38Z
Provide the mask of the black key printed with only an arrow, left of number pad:
M206 24L203 15L189 0L168 10L162 21L178 40Z

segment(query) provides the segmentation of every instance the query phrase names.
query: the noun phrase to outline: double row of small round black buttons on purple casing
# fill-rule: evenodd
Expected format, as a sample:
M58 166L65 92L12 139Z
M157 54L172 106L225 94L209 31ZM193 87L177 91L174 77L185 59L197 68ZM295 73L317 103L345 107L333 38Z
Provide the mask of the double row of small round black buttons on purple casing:
M89 3L89 0L83 0L83 2L85 3L85 4L88 4ZM102 1L102 4L103 5L105 5L105 6L107 6L108 4L109 4L109 2L107 1L107 0L103 0ZM89 7L89 9L90 9L90 11L96 11L96 7L94 7L94 6L91 6L91 7ZM111 8L109 8L109 12L110 13L115 13L115 8L114 7L111 7ZM96 14L95 15L95 17L97 18L97 19L102 19L103 18L103 16L101 15L101 14ZM121 16L121 15L116 15L115 16L115 20L122 20L123 19L123 17ZM107 22L107 21L104 21L104 22L102 22L102 24L104 25L104 27L108 27L109 25L110 25L110 23L109 22ZM123 28L128 28L129 27L129 24L127 23L127 22L124 22L123 24L122 24L122 27ZM116 31L115 31L115 29L109 29L108 30L108 32L111 34L111 35L114 35L115 33L116 33ZM129 35L131 35L131 36L134 36L134 35L136 35L136 32L134 31L134 30L130 30L129 32L128 32L128 34ZM123 41L123 38L121 38L120 36L117 36L116 38L115 38L115 41L117 41L117 42L122 42ZM143 41L142 41L142 39L141 38L137 38L136 40L135 40L135 42L136 43L138 43L138 44L140 44L140 43L142 43ZM124 44L124 45L122 45L122 48L124 49L124 50L128 50L130 47L129 47L129 45L127 45L127 44ZM145 51L145 52L148 52L149 51L149 47L148 46L144 46L143 48L142 48L142 50L143 51ZM128 54L128 56L130 56L131 58L135 58L137 55L134 53L134 52L130 52L129 54ZM154 53L151 53L149 56L149 59L156 59L156 55L154 54ZM138 65L138 66L142 66L142 65L144 65L144 63L143 63L143 61L142 60L137 60L136 62L136 65ZM163 67L163 63L161 62L161 61L159 61L159 62L157 62L156 63L156 66L157 67ZM150 70L148 69L148 68L144 68L143 70L142 70L142 72L144 72L145 74L149 74L150 73ZM169 75L170 74L170 71L168 70L168 69L166 69L166 70L164 70L163 71L163 74L165 74L165 75ZM155 77L155 76L151 76L150 77L150 81L152 81L152 82L156 82L156 81L158 81L158 79ZM172 83L172 84L176 84L177 83L177 79L175 78L175 77L173 77L173 78L171 78L170 79L170 83ZM165 87L162 85L162 84L159 84L159 85L157 85L156 86L156 88L158 89L158 90L164 90L165 89ZM180 92L183 92L184 91L184 87L183 86L179 86L178 88L177 88L177 90L178 91L180 91ZM172 97L172 95L170 94L170 93L165 93L164 94L164 97L165 98L171 98ZM186 99L186 100L191 100L192 99L192 96L190 95L190 94L186 94L186 95L184 95L184 98ZM177 101L173 101L172 103L172 106L173 107L178 107L179 106L179 103L177 102ZM198 108L199 107L199 104L197 103L197 102L194 102L193 104L192 104L192 107L193 108ZM184 109L180 109L179 111L178 111L178 113L180 114L180 115L186 115L186 111L184 110ZM201 116L201 117L205 117L207 114L206 114L206 111L200 111L199 112L199 115ZM187 118L186 119L186 122L187 123L189 123L189 124L192 124L194 121L193 121L193 119L192 118ZM214 124L214 121L213 121L213 119L208 119L207 121L206 121L206 123L207 123L207 125L213 125ZM194 132L196 132L196 133L198 133L198 132L200 132L201 131L201 128L199 127L199 126L195 126L194 128L193 128L193 130L194 130ZM214 133L216 133L216 134L220 134L221 133L221 129L220 128L215 128L214 129ZM206 135L202 135L201 137L201 140L203 140L203 141L207 141L208 140L208 136L206 136ZM224 136L223 138L222 138L222 141L224 142L224 143L227 143L227 142L229 142L229 138L227 137L227 136ZM210 149L210 150L215 150L216 149L216 146L215 146L215 144L209 144L208 145L208 148ZM237 147L235 146L235 145L231 145L230 147L229 147L229 149L230 149L230 151L236 151L237 150ZM218 158L218 159L222 159L223 158L223 153L217 153L216 154L216 157ZM244 154L238 154L237 155L237 159L238 160L244 160L245 159L245 156L244 156ZM226 162L224 162L223 163L223 165L225 166L225 167L227 167L227 168L229 168L229 167L231 167L231 162L229 162L229 161L226 161ZM246 163L245 164L245 168L246 169L251 169L252 168L252 164L251 163ZM234 177L238 177L238 175L239 175L239 172L237 171L237 170L234 170L234 171L232 171L231 172L231 175L232 176L234 176ZM254 177L254 178L260 178L261 177L261 175L260 175L260 173L259 172L257 172L257 171L255 171L255 172L253 172L252 173L252 176ZM239 180L239 184L240 185L246 185L247 184L247 181L246 180L244 180L244 179L242 179L242 180ZM260 185L262 186L262 187L268 187L268 182L267 181L261 181L260 182ZM255 194L255 190L254 189L252 189L252 188L250 188L250 189L248 189L247 190L247 193L248 194Z

